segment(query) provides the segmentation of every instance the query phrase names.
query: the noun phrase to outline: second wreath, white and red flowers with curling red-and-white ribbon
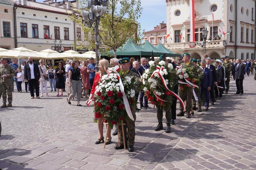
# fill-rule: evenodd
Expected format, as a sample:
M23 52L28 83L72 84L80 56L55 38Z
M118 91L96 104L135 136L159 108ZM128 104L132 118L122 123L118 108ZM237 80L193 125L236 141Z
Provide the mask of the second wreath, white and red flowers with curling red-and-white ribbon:
M170 108L172 105L173 87L178 83L178 78L173 65L160 61L156 64L149 62L150 68L141 75L142 89L153 105L161 105L163 108Z

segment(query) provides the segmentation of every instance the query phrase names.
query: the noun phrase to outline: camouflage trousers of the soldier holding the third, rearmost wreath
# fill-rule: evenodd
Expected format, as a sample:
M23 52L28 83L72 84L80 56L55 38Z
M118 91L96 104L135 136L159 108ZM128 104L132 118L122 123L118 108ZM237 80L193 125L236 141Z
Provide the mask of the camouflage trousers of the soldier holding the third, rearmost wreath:
M192 92L192 88L191 87L185 87L184 90L182 90L179 86L179 96L180 98L185 102L187 102L186 104L186 110L187 110L187 113L190 113L191 109L192 109L192 95L193 95L193 92ZM182 104L180 102L180 107L179 107L180 111L184 111L183 108L182 108Z

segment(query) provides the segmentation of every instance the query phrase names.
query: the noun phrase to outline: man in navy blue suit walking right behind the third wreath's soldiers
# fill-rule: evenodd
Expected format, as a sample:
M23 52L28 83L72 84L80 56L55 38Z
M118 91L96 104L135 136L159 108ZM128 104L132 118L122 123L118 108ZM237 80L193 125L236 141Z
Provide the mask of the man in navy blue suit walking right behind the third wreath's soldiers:
M209 110L209 101L210 101L210 90L212 87L212 73L209 68L206 67L205 60L201 61L201 66L204 70L204 78L201 81L201 98L204 93L205 95L205 110Z

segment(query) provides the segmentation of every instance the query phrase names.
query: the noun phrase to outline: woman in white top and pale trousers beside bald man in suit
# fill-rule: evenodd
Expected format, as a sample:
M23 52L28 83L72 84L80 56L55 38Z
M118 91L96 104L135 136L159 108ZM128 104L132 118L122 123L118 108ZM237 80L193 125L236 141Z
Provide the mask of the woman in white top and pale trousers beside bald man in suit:
M47 70L46 67L44 66L44 60L39 60L40 65L39 67L39 72L40 72L40 90L41 90L41 97L44 96L43 94L43 87L45 88L46 96L48 97L48 90L47 90ZM46 78L45 78L46 77ZM46 79L46 80L45 80Z

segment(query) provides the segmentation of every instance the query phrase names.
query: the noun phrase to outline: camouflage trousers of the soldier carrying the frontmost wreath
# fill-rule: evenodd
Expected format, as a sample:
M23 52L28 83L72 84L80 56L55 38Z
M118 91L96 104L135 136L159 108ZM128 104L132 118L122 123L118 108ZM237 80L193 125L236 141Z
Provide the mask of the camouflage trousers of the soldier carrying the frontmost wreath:
M123 130L124 130L124 136L125 136L125 143L127 145L134 145L134 140L135 140L135 120L136 120L136 114L135 114L135 108L134 111L131 112L133 114L134 121L131 120L130 118L125 118L123 119ZM118 126L118 133L119 133L119 138L120 138L120 144L123 145L123 133L122 133L122 125L121 123Z

